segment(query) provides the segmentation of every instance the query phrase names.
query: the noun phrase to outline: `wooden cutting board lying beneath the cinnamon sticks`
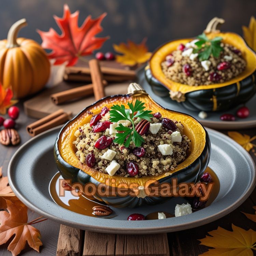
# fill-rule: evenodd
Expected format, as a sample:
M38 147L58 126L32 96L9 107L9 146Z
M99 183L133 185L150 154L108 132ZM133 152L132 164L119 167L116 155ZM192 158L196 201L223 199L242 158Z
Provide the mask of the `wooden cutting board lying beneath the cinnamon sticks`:
M114 83L105 87L106 96L116 94L127 94L127 87L130 82ZM70 102L66 102L60 105L55 105L50 95L58 93L63 90L72 89L77 86L84 85L84 83L67 83L61 82L52 88L45 88L41 93L33 98L24 102L25 113L33 118L43 118L59 109L63 109L65 112L71 111L72 116L75 116L82 109L95 102L94 96L87 98L76 99Z

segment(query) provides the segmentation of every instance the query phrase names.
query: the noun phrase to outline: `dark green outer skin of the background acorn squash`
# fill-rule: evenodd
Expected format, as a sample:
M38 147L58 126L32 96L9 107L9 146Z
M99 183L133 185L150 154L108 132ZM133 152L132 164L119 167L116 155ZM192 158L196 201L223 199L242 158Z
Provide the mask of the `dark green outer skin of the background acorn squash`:
M239 85L235 83L225 87L191 91L185 94L186 100L179 103L186 109L194 111L222 111L230 109L233 106L247 102L255 95L255 76L256 71L241 80ZM147 67L145 68L145 77L152 87L162 88L168 94L169 90L152 76L151 70ZM215 96L215 99L213 99L213 96Z

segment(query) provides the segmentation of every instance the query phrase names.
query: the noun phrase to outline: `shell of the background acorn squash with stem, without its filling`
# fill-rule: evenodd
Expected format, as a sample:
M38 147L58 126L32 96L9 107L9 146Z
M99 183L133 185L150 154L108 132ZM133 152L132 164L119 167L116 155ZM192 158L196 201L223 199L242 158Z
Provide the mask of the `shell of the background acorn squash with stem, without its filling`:
M161 62L179 44L186 44L193 39L174 40L160 46L149 60L145 68L145 76L152 86L164 86L169 90L170 98L180 102L189 110L221 111L234 105L247 102L256 92L256 54L245 41L236 33L220 32L216 29L218 23L224 20L214 18L204 31L209 39L222 37L224 43L233 45L241 50L246 60L245 70L237 77L225 82L210 85L189 86L166 78L161 69Z

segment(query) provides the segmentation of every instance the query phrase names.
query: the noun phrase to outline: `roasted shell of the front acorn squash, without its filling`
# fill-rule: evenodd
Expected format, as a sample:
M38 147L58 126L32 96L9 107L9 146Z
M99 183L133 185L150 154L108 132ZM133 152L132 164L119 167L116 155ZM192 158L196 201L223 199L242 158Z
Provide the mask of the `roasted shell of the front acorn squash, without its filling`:
M82 164L76 157L76 150L73 144L73 141L75 140L74 133L83 124L89 123L91 117L100 113L104 106L111 108L111 106L114 104L121 103L127 106L128 102L134 102L136 99L138 99L142 102L145 102L147 109L150 109L153 112L160 111L164 116L179 120L183 123L184 133L191 140L190 153L188 157L173 171L162 173L156 177L150 176L136 178L112 176L115 178L115 183L111 184L111 186L116 188L117 184L120 183L125 183L127 185L131 183L137 183L139 186L141 186L141 188L143 188L145 183L150 180L158 180L159 183L171 183L172 178L176 178L178 183L197 182L208 165L211 152L211 145L207 131L193 117L180 112L164 109L162 106L158 105L137 84L130 84L128 92L129 94L127 95L115 95L103 98L95 102L94 104L82 110L76 117L74 117L61 129L55 143L54 157L62 177L65 179L71 179L72 183L80 182L83 185L89 182L97 186L100 183L106 183L106 180L108 180L111 176L96 171L95 169L88 167L86 164ZM161 203L168 199L166 197L149 197L145 196L143 193L139 194L137 197L102 197L98 194L94 195L94 197L114 207L138 207L142 204Z

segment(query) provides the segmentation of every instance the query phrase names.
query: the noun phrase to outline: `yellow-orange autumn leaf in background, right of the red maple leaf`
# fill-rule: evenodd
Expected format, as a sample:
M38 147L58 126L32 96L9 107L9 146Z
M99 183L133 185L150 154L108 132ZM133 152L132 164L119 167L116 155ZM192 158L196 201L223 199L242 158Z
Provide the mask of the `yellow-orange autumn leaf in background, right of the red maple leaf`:
M146 62L151 57L152 53L148 52L145 43L146 39L143 39L140 44L133 43L130 40L128 40L127 44L113 44L114 50L123 54L116 55L116 61L128 66L134 66Z

